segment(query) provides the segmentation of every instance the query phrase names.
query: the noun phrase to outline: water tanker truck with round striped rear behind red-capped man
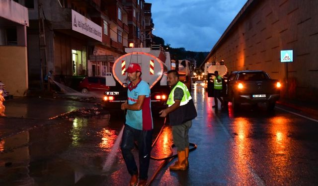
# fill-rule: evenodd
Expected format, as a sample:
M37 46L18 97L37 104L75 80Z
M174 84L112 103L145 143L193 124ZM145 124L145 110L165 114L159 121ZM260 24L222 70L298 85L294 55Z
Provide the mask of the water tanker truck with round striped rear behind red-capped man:
M130 63L141 66L141 78L151 88L152 108L166 107L170 91L167 85L166 72L171 69L170 54L163 50L152 48L126 48L127 54L119 57L113 64L112 73L106 73L106 86L110 89L104 92L103 106L105 108L120 109L120 103L127 100L127 86L129 84L127 72Z

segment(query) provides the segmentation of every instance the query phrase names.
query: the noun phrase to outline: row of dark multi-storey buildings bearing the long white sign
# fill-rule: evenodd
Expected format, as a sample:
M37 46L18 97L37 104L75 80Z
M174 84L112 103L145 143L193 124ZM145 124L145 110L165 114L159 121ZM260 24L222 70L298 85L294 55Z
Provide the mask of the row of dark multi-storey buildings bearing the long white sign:
M6 1L27 6L28 89L44 89L50 70L69 86L83 76L105 76L129 43L146 44L144 0Z

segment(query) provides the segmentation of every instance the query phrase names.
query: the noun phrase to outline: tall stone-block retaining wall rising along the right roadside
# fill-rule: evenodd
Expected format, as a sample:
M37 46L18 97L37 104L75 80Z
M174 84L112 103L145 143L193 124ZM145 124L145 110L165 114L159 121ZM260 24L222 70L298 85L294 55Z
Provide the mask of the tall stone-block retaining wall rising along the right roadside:
M318 0L246 4L206 62L216 57L229 71L265 70L283 82L283 97L318 101ZM280 62L281 50L294 50L294 62Z

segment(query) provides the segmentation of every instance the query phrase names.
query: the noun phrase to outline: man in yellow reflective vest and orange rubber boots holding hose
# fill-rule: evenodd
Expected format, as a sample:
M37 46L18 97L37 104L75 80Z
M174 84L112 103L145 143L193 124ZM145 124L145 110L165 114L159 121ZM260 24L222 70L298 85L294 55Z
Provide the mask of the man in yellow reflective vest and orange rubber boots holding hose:
M178 71L168 71L167 82L171 86L167 100L168 108L163 109L159 114L161 114L160 117L166 117L169 114L173 142L178 152L178 160L169 168L172 171L186 170L189 167L188 132L197 113L187 86L179 81Z

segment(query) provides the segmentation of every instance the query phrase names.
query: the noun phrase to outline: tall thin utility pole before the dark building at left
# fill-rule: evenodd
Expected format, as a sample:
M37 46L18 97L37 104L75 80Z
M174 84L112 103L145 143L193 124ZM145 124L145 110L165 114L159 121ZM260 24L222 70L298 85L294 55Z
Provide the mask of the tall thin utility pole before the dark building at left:
M47 52L45 41L45 25L44 25L44 10L42 0L38 0L38 19L39 19L39 52L40 52L40 68L41 68L41 89L44 90L43 74L48 73L47 66ZM48 90L50 90L50 83L48 80Z

